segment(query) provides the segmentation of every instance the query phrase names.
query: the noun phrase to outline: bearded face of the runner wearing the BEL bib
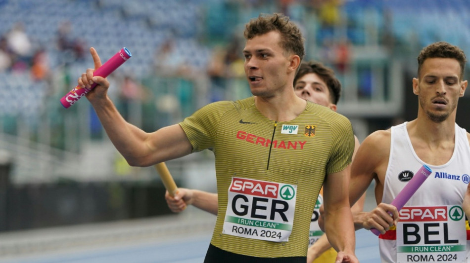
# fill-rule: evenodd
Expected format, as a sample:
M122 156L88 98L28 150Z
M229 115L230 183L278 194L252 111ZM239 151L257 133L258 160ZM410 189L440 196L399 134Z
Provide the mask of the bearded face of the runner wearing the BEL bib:
M419 78L413 79L413 92L418 95L420 110L430 120L442 122L455 115L459 97L464 96L467 80L460 81L460 64L451 58L424 60Z

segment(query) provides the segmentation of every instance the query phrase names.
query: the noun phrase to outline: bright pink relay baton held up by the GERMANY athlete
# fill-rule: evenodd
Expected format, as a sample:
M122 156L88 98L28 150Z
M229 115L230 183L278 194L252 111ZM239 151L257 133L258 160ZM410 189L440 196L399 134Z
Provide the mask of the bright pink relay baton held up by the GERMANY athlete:
M101 67L97 68L93 75L94 76L102 76L107 77L113 71L115 71L119 66L121 66L124 62L126 62L129 58L131 58L132 54L129 49L123 47L119 52L114 54L108 61L106 61ZM79 99L87 95L94 87L96 83L94 83L90 88L82 88L80 86L76 86L73 88L69 93L65 94L65 96L60 99L60 103L66 109L70 106L74 105Z

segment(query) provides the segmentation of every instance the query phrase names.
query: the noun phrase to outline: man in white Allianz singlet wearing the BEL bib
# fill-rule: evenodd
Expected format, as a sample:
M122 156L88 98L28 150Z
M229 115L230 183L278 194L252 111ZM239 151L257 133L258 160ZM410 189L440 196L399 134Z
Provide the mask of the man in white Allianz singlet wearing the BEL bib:
M356 229L380 231L382 262L470 260L465 225L465 214L470 216L470 134L455 123L459 98L468 85L463 79L466 61L459 47L446 42L423 48L413 79L418 117L372 133L356 153L350 201L375 180L378 206L355 213L354 223ZM398 212L390 203L422 165L432 174Z

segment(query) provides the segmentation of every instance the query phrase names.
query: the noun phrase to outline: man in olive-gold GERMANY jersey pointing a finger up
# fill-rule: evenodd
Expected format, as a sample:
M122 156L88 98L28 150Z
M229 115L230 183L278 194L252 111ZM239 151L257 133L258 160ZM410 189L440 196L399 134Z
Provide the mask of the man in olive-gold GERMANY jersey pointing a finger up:
M254 96L210 104L152 133L122 118L107 96L109 82L94 76L94 69L82 74L78 85L98 84L87 98L133 166L214 152L220 213L205 262L304 263L323 184L325 229L338 251L336 262L357 263L348 200L351 124L295 95L292 83L305 51L299 28L287 17L259 16L244 35L244 70ZM97 69L101 61L94 48L91 53Z

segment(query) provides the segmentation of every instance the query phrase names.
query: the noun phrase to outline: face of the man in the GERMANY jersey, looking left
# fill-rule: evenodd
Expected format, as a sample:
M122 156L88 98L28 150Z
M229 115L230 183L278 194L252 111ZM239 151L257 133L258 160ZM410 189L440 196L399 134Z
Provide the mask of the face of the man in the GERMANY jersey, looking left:
M288 83L291 56L285 54L280 40L277 31L246 40L243 49L245 75L255 96L273 97L286 86L292 88L292 83Z

